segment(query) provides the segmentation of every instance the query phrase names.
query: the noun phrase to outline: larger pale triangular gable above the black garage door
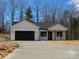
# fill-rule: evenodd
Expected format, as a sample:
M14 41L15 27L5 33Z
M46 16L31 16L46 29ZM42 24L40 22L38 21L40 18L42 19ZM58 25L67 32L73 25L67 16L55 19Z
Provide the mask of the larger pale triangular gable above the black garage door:
M15 24L15 25L13 25L12 26L12 28L39 28L37 25L35 25L35 24L33 24L33 23L31 23L31 22L29 22L29 21L26 21L26 20L23 20L23 21L21 21L21 22L19 22L19 23L17 23L17 24Z

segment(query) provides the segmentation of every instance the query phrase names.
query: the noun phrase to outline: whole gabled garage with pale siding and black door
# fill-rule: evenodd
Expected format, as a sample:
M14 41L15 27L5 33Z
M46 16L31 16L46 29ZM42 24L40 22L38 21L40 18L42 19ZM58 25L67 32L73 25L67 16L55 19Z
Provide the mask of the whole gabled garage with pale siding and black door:
M37 41L39 40L39 26L23 20L11 27L11 40L17 41Z

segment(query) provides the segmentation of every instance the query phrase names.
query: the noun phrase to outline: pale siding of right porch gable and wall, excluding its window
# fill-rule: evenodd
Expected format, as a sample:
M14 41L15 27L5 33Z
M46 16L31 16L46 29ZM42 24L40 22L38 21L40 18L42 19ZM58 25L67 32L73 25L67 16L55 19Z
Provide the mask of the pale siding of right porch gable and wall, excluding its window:
M52 31L52 39L56 39L56 40L65 40L66 39L66 31L68 30L68 28L62 26L61 24L56 24L50 28L48 28L49 31ZM57 37L57 31L62 31L63 32L63 36L62 37Z

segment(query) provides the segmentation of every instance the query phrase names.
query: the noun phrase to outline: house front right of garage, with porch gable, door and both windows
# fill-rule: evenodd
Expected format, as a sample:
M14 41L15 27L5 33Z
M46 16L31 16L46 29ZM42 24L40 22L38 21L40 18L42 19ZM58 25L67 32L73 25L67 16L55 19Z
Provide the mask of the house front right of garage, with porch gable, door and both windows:
M48 29L40 29L40 40L66 40L68 28L56 24Z

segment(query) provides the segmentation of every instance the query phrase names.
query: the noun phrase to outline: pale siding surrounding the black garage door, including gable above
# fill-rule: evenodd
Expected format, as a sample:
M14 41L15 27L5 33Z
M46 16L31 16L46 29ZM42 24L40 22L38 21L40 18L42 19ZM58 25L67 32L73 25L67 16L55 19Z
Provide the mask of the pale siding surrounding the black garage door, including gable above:
M28 21L22 21L11 28L11 40L15 40L15 31L34 31L35 40L39 40L39 27Z

